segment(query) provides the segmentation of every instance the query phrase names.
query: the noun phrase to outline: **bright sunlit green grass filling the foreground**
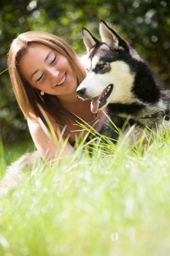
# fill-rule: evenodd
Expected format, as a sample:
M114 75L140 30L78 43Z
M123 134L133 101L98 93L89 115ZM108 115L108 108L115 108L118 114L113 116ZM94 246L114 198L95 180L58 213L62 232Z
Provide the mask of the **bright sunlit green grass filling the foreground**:
M169 135L42 164L1 198L0 255L168 256Z

